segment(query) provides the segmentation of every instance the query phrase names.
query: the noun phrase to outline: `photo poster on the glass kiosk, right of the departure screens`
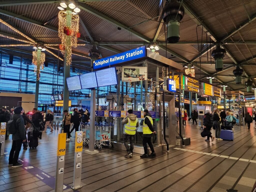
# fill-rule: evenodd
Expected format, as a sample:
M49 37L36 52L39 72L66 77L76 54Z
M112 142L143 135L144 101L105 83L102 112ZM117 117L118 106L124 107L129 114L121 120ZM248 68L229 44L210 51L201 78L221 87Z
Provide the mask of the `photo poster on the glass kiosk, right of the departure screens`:
M135 82L147 80L147 67L124 66L122 81Z

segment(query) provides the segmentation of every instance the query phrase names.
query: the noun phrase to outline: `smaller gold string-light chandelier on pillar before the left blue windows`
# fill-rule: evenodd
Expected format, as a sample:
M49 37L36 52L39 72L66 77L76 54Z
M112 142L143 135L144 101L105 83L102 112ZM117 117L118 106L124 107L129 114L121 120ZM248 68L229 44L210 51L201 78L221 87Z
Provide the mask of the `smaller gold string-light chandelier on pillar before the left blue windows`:
M33 49L37 48L36 46ZM41 49L40 49L41 48ZM36 51L32 52L32 63L35 65L34 72L36 72L36 80L39 81L40 79L40 70L44 69L44 62L45 62L45 53L41 52L45 49L38 46Z

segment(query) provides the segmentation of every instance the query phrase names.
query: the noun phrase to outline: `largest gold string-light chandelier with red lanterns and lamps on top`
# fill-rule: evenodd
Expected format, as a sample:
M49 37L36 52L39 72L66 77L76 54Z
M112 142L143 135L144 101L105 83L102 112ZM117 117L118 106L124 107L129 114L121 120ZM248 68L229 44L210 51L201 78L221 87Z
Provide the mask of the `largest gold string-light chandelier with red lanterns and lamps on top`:
M58 7L60 9L58 35L61 40L59 48L62 55L66 57L66 65L71 64L72 47L77 47L77 38L81 36L79 33L79 16L80 9L72 2L62 2ZM65 51L66 54L65 54Z

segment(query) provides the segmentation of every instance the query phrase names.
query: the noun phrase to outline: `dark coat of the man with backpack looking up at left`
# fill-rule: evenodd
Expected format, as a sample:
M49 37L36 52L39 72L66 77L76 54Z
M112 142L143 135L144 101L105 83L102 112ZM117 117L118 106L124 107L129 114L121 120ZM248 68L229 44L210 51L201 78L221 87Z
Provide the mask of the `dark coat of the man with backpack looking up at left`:
M12 140L25 140L26 139L26 131L24 127L23 115L13 114L11 116L11 120L15 121L16 125L16 133L12 135Z

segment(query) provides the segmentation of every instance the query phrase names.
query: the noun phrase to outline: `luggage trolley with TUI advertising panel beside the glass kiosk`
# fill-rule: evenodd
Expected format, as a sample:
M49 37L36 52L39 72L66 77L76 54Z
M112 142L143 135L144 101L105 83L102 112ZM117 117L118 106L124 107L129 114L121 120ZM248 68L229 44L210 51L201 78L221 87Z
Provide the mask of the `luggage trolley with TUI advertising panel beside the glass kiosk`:
M94 148L97 148L99 150L102 149L102 146L108 146L111 148L110 143L110 137L111 137L111 129L114 125L112 123L97 123L97 127L99 127L100 130L95 131L95 145Z

